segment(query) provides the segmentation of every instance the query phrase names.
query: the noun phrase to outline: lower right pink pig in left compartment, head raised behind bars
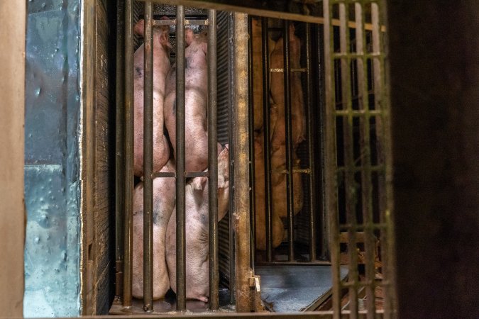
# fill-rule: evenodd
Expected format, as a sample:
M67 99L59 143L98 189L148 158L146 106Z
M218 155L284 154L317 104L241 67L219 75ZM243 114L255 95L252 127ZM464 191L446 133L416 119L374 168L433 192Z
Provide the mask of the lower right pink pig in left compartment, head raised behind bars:
M208 179L195 177L185 187L186 195L186 296L209 299ZM229 149L218 156L218 220L229 207ZM170 286L176 292L176 208L167 227L166 260Z

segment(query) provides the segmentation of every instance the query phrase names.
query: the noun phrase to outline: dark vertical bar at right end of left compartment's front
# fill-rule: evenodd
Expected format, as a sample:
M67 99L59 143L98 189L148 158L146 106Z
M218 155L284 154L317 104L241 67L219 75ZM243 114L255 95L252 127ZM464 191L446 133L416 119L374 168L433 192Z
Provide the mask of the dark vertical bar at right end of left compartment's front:
M208 10L209 308L219 308L216 11Z

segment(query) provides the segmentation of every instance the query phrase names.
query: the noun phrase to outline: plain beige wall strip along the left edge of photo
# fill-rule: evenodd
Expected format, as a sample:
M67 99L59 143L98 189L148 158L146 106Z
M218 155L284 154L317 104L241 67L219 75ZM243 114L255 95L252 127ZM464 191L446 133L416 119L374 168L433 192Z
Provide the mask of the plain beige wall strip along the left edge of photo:
M4 318L23 314L25 16L26 1L0 2L0 317Z

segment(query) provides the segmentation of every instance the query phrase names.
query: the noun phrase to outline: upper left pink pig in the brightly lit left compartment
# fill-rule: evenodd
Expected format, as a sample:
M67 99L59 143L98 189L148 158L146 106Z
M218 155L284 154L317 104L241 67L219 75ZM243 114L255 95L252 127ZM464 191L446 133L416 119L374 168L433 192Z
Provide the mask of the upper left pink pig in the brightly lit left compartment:
M165 18L165 17L164 17ZM145 21L140 20L134 26L138 35L143 35ZM164 133L163 102L165 99L165 83L170 71L170 27L153 28L153 172L159 172L170 158L170 146ZM144 52L143 45L133 55L133 109L134 109L134 157L133 172L143 176L143 85L144 85Z

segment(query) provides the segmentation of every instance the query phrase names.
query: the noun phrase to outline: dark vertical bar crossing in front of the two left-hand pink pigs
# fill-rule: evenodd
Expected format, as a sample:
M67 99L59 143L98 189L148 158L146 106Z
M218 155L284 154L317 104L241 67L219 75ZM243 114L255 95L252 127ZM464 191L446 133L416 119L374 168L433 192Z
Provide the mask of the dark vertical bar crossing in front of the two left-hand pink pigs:
M143 85L143 310L153 311L153 5L145 2Z

